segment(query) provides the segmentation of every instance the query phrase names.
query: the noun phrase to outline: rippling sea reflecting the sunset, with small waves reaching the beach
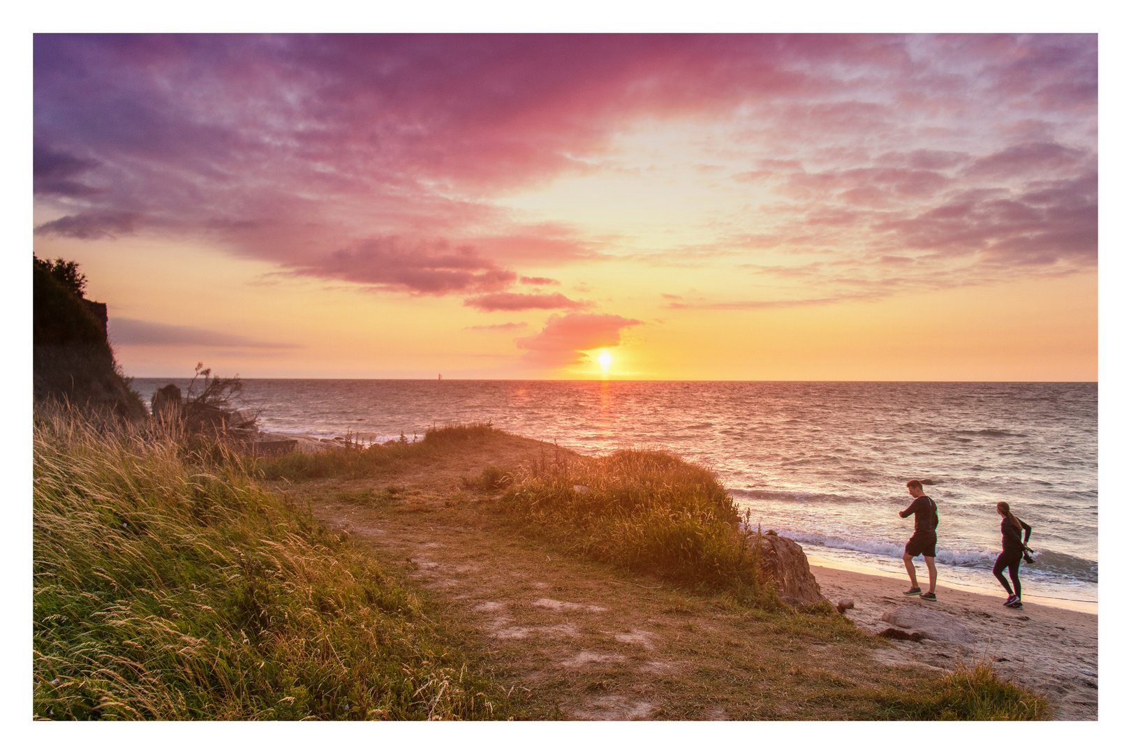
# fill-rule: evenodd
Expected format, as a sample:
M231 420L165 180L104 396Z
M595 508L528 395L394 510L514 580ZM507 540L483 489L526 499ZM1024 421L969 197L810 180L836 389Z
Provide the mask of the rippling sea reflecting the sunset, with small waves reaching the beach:
M170 382L135 379L148 398ZM261 430L383 442L491 422L582 453L656 448L711 468L751 526L813 564L906 579L905 483L939 505L939 581L1005 593L998 501L1033 527L1025 599L1098 609L1095 382L243 380ZM918 563L925 582L925 567Z

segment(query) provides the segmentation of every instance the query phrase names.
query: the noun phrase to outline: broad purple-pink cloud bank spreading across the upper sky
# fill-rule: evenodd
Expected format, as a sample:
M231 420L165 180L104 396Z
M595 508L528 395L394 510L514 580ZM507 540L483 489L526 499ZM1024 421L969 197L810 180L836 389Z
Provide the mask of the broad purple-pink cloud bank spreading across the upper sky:
M54 219L36 233L155 228L414 294L555 285L521 266L604 259L605 242L494 200L597 170L638 119L692 118L744 129L735 147L750 170L728 180L775 197L760 213L772 227L696 253L839 255L873 288L884 257L908 254L940 284L1020 274L1012 262L1083 269L1096 45L1094 34L37 34L34 187ZM827 284L845 277L830 269Z

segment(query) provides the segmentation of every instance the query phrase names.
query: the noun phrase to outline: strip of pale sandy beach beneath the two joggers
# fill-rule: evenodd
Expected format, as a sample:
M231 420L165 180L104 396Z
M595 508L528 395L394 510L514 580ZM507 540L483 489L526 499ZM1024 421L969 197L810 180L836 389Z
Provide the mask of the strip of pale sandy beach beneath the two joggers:
M922 567L920 569L922 571ZM952 638L968 641L923 639L892 641L892 649L879 653L881 661L925 664L949 668L956 660L985 658L1003 678L1016 679L1044 694L1057 720L1097 719L1098 634L1097 616L1027 603L1020 610L1002 606L1002 597L991 597L939 586L939 601L904 597L906 579L892 579L814 565L821 592L837 604L852 599L846 615L869 633L897 627L888 618L891 610L922 625L953 626ZM900 621L906 623L907 621ZM961 629L968 636L961 635ZM910 633L912 627L904 631Z

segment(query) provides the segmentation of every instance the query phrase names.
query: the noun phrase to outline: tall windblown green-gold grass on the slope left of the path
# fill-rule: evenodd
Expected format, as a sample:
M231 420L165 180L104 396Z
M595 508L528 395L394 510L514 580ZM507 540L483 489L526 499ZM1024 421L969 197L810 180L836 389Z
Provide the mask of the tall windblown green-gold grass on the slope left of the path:
M389 572L181 440L36 415L36 718L507 717Z

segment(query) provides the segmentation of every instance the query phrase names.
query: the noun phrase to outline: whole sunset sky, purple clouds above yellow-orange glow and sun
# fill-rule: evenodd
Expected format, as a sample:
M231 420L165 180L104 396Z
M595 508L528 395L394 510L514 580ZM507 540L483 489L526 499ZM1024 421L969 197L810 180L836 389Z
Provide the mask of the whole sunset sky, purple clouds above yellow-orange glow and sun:
M1089 34L36 35L34 192L136 376L1097 378Z

